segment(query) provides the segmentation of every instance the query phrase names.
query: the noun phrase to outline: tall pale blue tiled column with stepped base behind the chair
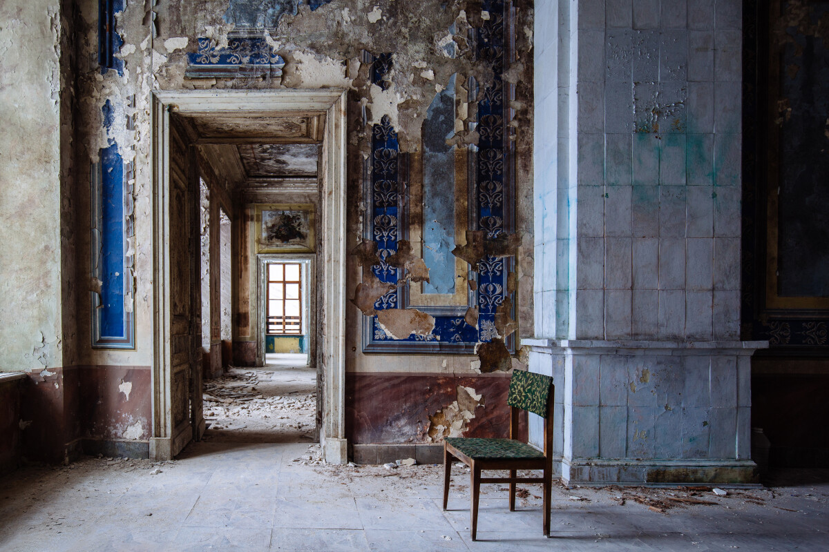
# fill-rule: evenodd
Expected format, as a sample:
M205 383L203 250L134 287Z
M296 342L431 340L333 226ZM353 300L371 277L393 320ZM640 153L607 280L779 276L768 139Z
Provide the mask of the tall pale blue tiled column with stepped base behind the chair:
M565 482L753 482L739 0L536 4L536 339ZM532 434L538 427L531 422Z

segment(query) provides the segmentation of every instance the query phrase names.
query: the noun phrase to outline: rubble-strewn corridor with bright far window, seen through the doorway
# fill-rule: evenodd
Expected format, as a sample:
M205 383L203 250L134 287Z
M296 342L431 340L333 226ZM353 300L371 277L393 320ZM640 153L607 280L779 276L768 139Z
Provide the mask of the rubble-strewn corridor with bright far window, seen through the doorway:
M251 336L256 339L255 358L237 352L224 373L204 383L204 439L313 442L318 439L316 339L311 331L317 327L313 238L318 232L312 215L318 205L320 148L231 143L198 149L208 172L233 183L230 194L241 221L236 230L240 253L234 257L239 274L232 280L239 284L233 293L234 310L255 313L252 326L235 324L234 344L245 347ZM239 173L223 172L228 165L239 167ZM302 222L303 209L307 220L286 230L286 224ZM223 251L224 247L222 237ZM311 251L270 253L274 248ZM222 266L221 282L225 281L231 278ZM230 295L230 290L221 286L221 295ZM230 319L225 322L225 310L221 315L224 334Z

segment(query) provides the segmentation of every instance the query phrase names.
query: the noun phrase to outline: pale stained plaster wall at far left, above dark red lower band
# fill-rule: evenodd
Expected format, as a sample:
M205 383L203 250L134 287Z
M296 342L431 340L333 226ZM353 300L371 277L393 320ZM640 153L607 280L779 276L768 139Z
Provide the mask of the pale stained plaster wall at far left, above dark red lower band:
M64 364L64 23L59 2L0 5L0 113L4 127L13 129L0 137L0 311L6 315L0 327L2 372Z

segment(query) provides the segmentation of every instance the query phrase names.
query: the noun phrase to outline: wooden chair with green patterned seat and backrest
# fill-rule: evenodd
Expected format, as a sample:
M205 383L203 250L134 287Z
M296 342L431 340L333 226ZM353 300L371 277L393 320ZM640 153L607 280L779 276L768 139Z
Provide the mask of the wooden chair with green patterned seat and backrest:
M510 511L516 509L516 483L543 483L544 534L550 536L550 487L553 475L553 378L516 370L510 379L507 405L510 406L509 439L444 439L444 510L449 498L452 463L463 462L471 470L469 490L472 492L472 540L478 537L478 497L481 483L509 483ZM527 410L544 417L544 452L514 439L518 434L518 410ZM509 470L508 478L482 478L483 470ZM541 478L519 478L519 469L540 469Z

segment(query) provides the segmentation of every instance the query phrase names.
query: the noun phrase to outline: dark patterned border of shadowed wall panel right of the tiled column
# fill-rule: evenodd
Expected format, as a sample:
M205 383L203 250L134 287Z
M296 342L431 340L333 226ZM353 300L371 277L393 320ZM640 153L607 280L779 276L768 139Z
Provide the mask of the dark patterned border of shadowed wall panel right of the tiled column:
M746 0L743 8L743 162L741 337L771 348L829 346L826 297L783 295L779 286L781 197L778 125L780 50L773 45L773 14L781 2Z

